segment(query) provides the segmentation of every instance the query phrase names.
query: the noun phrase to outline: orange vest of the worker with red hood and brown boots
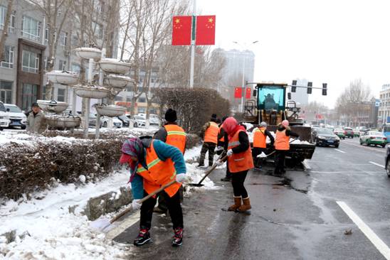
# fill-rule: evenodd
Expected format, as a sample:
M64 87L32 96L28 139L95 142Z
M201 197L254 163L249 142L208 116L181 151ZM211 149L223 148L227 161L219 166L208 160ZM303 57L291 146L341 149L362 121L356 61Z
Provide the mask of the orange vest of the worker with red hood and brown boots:
M238 130L236 134L234 134L233 138L229 140L228 149L240 145L240 141L238 140L238 134L240 134L241 131L244 130ZM243 170L249 170L253 168L254 166L251 146L248 147L248 150L243 151L242 153L233 153L233 155L229 156L228 167L231 173L238 173Z

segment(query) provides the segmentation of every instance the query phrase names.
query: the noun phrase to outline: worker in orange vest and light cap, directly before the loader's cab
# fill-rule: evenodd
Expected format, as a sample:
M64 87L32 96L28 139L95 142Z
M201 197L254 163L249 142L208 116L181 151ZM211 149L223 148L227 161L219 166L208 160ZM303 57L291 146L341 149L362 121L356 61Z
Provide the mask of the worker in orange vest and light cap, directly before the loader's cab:
M252 133L253 133L253 149L252 149L253 162L255 163L255 168L260 168L261 167L260 158L257 158L257 156L260 153L265 153L267 151L267 136L270 139L271 146L273 146L275 139L273 138L270 131L267 130L267 123L265 123L264 121L261 122L258 127L255 127Z

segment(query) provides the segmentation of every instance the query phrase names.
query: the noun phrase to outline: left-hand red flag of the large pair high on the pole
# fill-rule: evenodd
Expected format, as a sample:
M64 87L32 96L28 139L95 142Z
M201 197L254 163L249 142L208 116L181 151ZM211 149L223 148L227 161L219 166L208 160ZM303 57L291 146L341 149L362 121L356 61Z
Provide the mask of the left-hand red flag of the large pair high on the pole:
M172 45L191 45L192 16L174 16Z

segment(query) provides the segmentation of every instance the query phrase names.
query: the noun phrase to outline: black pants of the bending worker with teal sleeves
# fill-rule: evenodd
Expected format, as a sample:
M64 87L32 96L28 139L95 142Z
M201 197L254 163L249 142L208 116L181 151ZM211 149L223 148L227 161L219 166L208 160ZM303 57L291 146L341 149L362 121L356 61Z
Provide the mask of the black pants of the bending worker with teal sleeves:
M175 195L169 197L167 193L162 192L167 202L169 215L171 216L172 224L174 224L174 229L181 227L183 228L183 212L180 205L180 193L179 190ZM144 196L147 196L147 193L144 191ZM142 203L141 206L141 220L139 222L139 227L141 229L150 229L152 226L152 215L154 205L156 205L157 198L151 197L149 200L146 200Z

